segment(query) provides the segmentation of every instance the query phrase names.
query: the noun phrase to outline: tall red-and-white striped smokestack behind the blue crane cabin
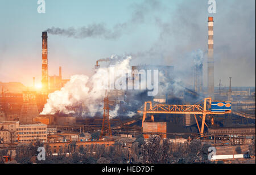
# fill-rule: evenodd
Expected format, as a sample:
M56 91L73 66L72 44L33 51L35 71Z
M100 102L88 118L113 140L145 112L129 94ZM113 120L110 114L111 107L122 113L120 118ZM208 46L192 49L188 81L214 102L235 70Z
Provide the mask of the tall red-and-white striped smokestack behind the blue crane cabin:
M208 95L214 95L213 17L208 17Z

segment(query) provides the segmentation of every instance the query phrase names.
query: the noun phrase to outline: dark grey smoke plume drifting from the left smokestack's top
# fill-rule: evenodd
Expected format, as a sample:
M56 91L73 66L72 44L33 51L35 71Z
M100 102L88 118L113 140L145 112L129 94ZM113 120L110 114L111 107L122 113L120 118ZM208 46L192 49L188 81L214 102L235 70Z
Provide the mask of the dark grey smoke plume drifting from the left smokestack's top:
M104 23L89 24L81 28L48 28L46 32L52 35L61 35L66 37L73 37L75 39L85 38L103 38L106 40L118 39L123 35L127 29L134 29L135 25L142 24L148 14L162 9L162 5L156 0L145 0L141 4L133 6L133 12L130 20L124 23L115 24L111 29L107 28Z

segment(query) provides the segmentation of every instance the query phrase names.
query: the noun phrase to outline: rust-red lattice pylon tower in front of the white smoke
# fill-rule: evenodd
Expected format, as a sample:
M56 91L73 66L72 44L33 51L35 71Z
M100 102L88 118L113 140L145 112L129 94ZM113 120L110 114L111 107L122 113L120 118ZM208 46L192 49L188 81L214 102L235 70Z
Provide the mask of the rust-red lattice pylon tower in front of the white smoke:
M104 98L104 113L103 113L103 120L102 120L102 127L101 127L101 136L100 140L102 140L104 134L108 135L110 139L112 139L112 131L110 128L110 121L109 121L109 94L108 91L105 91L105 98Z

